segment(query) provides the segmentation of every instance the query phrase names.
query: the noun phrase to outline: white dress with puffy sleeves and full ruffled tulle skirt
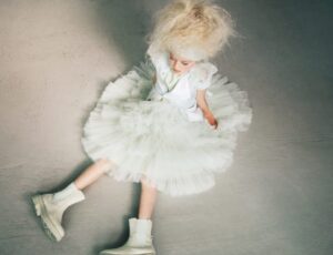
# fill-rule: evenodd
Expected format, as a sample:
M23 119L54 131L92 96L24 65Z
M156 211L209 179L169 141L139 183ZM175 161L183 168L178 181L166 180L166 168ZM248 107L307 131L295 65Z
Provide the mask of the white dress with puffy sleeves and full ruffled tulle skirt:
M210 62L176 76L167 52L147 57L107 85L84 124L83 149L93 161L115 163L108 174L117 181L145 177L172 196L204 192L214 186L214 174L231 165L238 132L251 123L248 95ZM196 105L202 89L216 130Z

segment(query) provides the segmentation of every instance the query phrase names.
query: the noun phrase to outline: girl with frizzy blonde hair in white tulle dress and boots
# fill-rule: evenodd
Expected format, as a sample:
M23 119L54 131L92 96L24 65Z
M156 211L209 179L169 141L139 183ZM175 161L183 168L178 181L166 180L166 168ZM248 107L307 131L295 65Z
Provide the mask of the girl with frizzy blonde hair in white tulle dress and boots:
M82 145L94 163L64 190L32 197L47 234L58 242L63 212L108 174L141 182L142 188L128 242L100 254L155 254L158 192L180 196L211 188L214 174L232 162L238 131L251 122L246 93L209 62L235 35L230 14L206 1L174 0L155 21L147 60L108 84L84 125Z

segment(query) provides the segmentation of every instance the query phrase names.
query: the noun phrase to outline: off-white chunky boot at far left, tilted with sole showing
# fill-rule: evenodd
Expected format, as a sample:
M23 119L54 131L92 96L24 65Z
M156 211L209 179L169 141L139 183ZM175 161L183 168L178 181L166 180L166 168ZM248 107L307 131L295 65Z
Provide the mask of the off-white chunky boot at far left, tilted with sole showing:
M54 194L33 195L34 211L41 217L44 231L53 241L61 241L64 236L61 226L63 212L72 204L83 201L84 194L77 188L74 183Z

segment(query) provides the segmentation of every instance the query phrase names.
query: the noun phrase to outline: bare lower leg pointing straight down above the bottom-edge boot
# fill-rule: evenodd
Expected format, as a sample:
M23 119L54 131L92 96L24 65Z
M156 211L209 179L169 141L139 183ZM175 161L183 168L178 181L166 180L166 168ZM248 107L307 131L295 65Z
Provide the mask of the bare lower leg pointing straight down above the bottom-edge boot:
M142 220L151 218L153 210L154 210L157 195L158 195L157 188L149 185L149 183L144 178L141 180L141 197L140 197L139 218L142 218Z

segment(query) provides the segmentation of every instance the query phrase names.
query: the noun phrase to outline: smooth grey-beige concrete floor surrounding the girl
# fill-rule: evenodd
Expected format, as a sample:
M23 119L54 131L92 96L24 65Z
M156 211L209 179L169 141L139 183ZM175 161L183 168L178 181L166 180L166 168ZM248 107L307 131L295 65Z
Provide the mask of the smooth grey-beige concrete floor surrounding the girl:
M29 196L91 164L82 124L110 80L143 58L165 1L0 2L0 254L92 255L120 245L139 185L105 176L64 214L65 237L41 231ZM254 118L234 164L201 195L160 194L159 255L333 254L333 3L219 1L242 39L214 60L249 92Z

